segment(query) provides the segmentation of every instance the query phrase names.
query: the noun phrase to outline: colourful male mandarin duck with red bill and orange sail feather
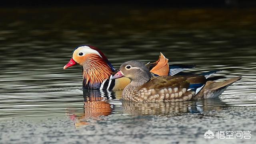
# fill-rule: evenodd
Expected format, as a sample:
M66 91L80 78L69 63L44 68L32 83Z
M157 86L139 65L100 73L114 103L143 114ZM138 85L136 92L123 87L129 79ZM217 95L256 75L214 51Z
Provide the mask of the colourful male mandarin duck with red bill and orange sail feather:
M83 67L83 87L88 89L122 90L130 83L128 78L110 80L115 68L108 61L106 56L96 47L82 45L75 48L72 58L64 66L64 69L80 64ZM174 75L192 65L168 64L168 59L161 53L159 59L154 63L146 64L148 69L155 76Z

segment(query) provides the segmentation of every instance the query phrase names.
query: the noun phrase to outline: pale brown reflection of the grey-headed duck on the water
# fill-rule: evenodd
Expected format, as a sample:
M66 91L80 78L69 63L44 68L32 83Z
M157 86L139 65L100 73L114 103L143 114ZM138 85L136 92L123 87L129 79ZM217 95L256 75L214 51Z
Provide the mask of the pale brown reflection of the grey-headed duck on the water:
M215 105L216 104L216 105ZM222 110L220 100L203 100L203 101L187 101L187 102L157 102L157 103L141 103L122 101L122 110L124 114L132 116L139 115L159 115L159 116L178 116L184 113L201 114L204 112Z

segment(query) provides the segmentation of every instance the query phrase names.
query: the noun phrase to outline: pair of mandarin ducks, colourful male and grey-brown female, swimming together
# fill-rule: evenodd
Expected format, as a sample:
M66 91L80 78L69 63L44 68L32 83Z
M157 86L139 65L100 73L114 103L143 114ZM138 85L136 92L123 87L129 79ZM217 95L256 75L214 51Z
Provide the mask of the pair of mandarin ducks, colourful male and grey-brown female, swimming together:
M96 47L82 45L73 50L64 69L80 64L83 87L88 89L122 90L122 98L133 102L174 102L191 99L217 98L241 76L214 82L209 77L218 71L202 74L182 72L190 65L169 65L161 53L154 63L124 62L118 71Z

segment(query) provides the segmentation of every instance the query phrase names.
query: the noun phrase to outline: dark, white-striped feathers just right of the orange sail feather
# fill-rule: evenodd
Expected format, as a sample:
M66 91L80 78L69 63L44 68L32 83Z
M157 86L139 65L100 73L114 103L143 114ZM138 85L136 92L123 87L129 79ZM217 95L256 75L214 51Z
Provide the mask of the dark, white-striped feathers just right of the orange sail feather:
M196 65L186 65L186 64L171 64L169 66L169 76L174 76L175 74L178 74L179 72L182 72L184 70L188 70L190 68L195 68Z

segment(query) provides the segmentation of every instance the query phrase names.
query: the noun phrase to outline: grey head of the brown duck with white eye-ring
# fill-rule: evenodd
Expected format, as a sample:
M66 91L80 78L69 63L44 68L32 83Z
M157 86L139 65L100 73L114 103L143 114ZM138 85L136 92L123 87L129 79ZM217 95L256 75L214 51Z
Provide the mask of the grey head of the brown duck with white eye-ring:
M122 77L130 78L130 85L132 86L141 86L152 78L152 74L144 64L132 60L124 62L120 66L120 71L117 72L111 79Z

